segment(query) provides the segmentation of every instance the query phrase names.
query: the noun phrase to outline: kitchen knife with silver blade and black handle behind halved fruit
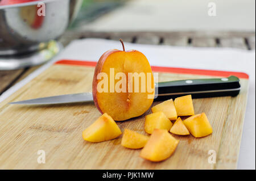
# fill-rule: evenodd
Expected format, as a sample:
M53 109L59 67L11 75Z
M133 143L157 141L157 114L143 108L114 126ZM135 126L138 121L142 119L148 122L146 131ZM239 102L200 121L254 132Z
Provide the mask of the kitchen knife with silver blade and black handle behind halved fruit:
M227 78L187 79L155 83L155 100L167 100L183 95L192 95L192 98L209 98L216 96L236 96L241 86L240 79L235 76ZM9 104L62 104L92 102L90 92L49 96L45 98L28 99Z

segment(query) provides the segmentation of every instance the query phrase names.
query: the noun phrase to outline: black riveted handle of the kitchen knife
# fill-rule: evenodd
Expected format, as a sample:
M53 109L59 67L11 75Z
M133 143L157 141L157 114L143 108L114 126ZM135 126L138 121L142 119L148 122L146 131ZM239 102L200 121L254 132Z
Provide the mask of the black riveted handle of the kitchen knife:
M208 98L214 96L236 96L241 86L240 79L235 76L211 79L187 79L156 83L156 100L166 100L191 94L192 98Z

